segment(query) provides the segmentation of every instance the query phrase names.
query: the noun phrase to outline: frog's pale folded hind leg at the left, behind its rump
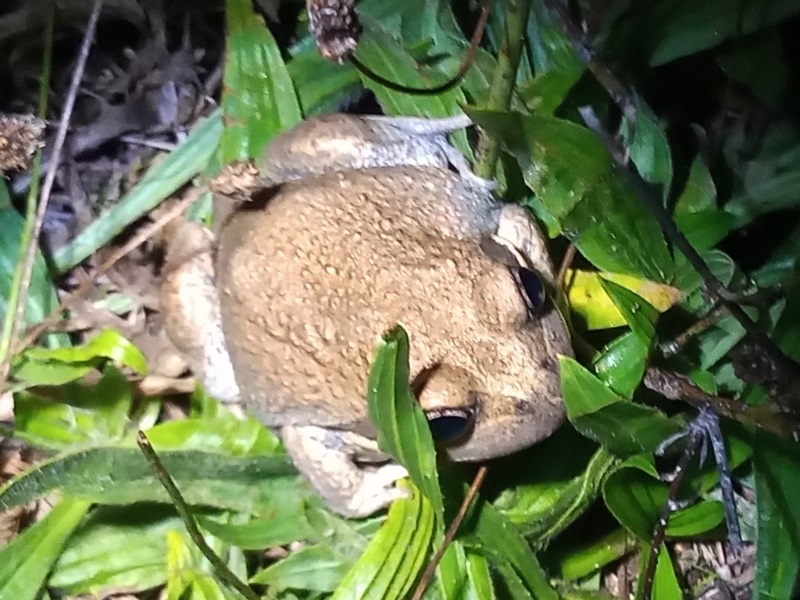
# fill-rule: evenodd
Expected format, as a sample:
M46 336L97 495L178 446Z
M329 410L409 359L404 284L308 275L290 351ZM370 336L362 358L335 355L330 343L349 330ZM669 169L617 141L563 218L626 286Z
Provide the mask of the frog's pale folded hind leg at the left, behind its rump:
M208 394L237 404L239 386L222 330L213 250L213 234L199 223L175 229L162 274L161 311L167 335Z

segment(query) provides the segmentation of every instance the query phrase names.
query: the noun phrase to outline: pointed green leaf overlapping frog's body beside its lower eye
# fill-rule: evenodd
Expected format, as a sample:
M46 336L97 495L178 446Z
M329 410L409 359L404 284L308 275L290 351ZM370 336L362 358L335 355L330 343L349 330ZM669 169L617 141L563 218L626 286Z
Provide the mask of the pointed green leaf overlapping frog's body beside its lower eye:
M386 333L369 374L369 418L378 428L378 446L408 469L411 481L431 501L440 522L442 491L436 470L436 449L428 419L411 391L408 334L397 326Z

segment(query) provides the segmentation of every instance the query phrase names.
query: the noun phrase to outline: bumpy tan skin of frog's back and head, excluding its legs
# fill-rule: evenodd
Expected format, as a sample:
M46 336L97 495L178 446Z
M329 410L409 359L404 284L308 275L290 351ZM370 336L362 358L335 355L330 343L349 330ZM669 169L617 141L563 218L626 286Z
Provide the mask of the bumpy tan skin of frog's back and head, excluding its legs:
M216 271L241 400L268 425L364 423L381 333L411 340L424 409L471 408L448 449L483 460L527 447L563 419L555 310L530 319L508 269L480 249L500 207L443 169L388 167L289 183L234 215ZM546 256L540 271L550 274Z

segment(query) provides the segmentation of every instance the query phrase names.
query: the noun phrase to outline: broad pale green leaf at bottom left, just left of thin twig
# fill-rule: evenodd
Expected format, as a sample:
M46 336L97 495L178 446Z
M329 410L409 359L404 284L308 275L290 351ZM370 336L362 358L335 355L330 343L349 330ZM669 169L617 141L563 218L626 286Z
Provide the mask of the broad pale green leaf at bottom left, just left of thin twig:
M96 507L70 537L49 584L71 595L162 585L170 530L184 530L171 507Z

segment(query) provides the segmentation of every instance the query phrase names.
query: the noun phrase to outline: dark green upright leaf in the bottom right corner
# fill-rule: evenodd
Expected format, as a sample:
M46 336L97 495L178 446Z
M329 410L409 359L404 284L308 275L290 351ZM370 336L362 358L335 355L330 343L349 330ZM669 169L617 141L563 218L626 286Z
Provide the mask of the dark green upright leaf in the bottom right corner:
M758 434L755 441L758 523L753 598L790 598L800 572L800 455L794 441L767 434Z

